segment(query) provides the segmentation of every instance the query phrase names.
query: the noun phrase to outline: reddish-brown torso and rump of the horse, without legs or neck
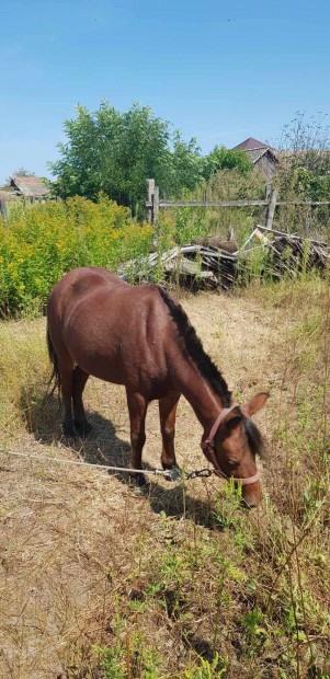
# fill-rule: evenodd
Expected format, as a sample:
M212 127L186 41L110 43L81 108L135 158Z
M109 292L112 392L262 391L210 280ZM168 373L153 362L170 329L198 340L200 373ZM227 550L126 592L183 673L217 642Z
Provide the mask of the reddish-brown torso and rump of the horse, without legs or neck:
M151 383L167 375L172 324L157 286L73 269L50 295L48 325L55 343L95 377L153 392Z

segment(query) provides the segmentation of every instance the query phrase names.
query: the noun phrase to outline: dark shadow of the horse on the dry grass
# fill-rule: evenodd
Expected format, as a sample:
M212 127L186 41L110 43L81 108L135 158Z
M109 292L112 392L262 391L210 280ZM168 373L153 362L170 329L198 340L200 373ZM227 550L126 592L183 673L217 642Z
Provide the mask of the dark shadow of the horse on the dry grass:
M129 444L117 436L114 424L101 414L87 410L88 421L93 427L92 434L86 439L80 437L67 439L61 430L61 404L56 395L45 396L42 390L41 393L36 393L35 388L33 391L24 389L21 392L21 412L24 413L26 428L38 442L75 450L81 460L91 464L128 468ZM143 467L144 470L155 471L155 468L159 469L160 462L156 461L152 469L144 461ZM127 472L109 470L109 473L115 475L124 485L137 490ZM186 484L170 481L166 484L159 483L155 475L145 486L139 487L138 492L148 497L150 508L156 514L163 513L177 519L190 518L206 528L219 529L212 503L191 496Z

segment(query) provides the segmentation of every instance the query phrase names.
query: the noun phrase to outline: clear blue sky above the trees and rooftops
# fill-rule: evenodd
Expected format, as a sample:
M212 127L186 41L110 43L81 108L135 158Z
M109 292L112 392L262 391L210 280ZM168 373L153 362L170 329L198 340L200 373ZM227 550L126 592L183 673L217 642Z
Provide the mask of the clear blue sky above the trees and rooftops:
M78 103L149 105L203 153L330 114L330 0L0 0L0 183L49 176Z

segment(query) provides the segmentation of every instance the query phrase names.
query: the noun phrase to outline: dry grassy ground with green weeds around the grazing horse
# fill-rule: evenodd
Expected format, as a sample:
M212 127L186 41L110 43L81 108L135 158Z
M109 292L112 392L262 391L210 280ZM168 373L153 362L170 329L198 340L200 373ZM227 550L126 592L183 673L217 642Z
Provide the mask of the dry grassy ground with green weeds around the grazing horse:
M215 477L157 479L143 494L124 474L70 464L127 464L124 390L89 381L94 435L69 446L57 400L44 401L45 320L1 322L3 679L330 677L329 286L181 301L236 398L271 392L255 418L261 507L240 509ZM201 435L182 400L186 471L206 467ZM146 465L159 454L151 404Z

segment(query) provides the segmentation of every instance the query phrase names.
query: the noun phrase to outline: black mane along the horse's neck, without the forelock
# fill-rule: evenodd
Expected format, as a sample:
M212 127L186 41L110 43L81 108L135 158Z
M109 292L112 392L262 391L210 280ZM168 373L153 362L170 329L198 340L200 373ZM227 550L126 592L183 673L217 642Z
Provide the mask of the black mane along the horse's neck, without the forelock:
M184 349L187 356L193 359L201 375L205 377L215 393L220 396L224 407L229 407L231 392L228 390L227 382L224 380L216 365L204 350L203 344L197 336L195 329L191 324L185 311L183 311L181 304L174 302L174 300L163 288L160 286L157 286L157 288L169 309L170 315L177 324L179 334L184 342Z

